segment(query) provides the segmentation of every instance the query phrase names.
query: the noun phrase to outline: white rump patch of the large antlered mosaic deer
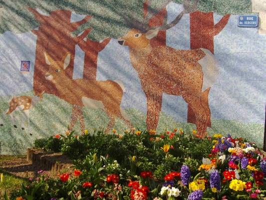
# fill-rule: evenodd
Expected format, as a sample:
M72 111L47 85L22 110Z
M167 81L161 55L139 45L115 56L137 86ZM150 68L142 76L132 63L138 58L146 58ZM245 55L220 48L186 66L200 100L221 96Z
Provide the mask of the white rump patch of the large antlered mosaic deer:
M201 48L206 54L198 63L202 67L203 71L203 85L202 91L214 85L219 75L219 68L217 67L217 61L213 53L205 48Z

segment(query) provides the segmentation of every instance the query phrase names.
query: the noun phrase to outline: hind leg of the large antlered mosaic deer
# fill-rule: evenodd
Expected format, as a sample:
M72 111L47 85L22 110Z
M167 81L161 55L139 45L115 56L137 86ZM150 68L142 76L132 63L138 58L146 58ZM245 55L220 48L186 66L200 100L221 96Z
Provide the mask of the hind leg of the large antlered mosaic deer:
M207 113L201 102L201 92L182 91L182 96L196 114L197 136L203 137L207 129Z

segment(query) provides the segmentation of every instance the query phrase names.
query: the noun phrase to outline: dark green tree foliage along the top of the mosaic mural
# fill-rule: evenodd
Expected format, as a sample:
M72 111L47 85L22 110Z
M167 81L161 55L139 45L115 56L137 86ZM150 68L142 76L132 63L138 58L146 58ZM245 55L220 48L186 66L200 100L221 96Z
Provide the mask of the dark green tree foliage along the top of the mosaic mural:
M173 0L182 3L182 0ZM128 21L143 20L144 0L3 0L0 1L0 33L26 32L39 23L27 7L39 8L49 14L56 9L71 10L77 14L93 16L82 24L76 34L93 27L91 39L117 38L128 31ZM166 0L152 0L151 8L158 9ZM251 0L199 0L199 10L219 14L252 12Z

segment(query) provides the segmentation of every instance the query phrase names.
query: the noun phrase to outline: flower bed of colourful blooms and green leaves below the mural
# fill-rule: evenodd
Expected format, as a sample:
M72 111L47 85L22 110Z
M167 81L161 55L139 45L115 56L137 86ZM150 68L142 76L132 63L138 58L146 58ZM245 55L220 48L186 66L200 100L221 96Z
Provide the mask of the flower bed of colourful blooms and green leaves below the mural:
M102 131L35 141L73 159L71 174L39 172L11 199L263 199L266 159L255 143L230 135L197 138L174 129ZM7 197L5 198L7 199Z

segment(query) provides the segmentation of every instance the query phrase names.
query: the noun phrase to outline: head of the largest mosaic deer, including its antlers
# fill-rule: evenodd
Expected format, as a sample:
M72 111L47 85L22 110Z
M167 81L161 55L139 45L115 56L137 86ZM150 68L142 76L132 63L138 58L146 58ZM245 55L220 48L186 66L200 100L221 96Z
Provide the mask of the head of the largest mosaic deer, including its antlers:
M152 19L152 17L158 14L162 8L166 7L171 0L166 0L165 3L162 3L161 6L157 8L152 8L150 6L151 0L147 0L146 2L148 8L144 19L142 21L127 19L128 26L133 28L127 34L118 38L119 44L129 46L130 48L147 47L150 43L150 40L155 37L160 30L167 30L176 25L185 13L195 11L198 4L198 0L183 0L184 10L180 12L173 21L167 23L165 20L161 26L150 27L149 21Z

